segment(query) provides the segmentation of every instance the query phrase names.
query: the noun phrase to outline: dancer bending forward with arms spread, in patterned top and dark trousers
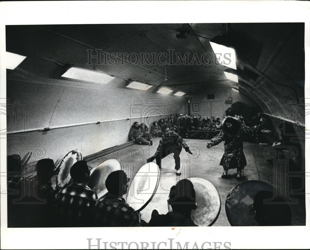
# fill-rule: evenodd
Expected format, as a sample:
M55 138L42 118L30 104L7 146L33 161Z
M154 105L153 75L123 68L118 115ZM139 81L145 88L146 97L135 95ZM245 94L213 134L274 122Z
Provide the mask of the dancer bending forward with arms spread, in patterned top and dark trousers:
M182 151L182 147L189 154L193 154L185 141L175 132L166 128L165 134L162 135L161 140L159 141L159 145L154 156L147 159L146 162L153 162L156 159L156 164L159 169L162 168L162 158L166 157L170 153L174 153L173 158L175 159L175 170L176 175L181 175L180 171L180 153Z

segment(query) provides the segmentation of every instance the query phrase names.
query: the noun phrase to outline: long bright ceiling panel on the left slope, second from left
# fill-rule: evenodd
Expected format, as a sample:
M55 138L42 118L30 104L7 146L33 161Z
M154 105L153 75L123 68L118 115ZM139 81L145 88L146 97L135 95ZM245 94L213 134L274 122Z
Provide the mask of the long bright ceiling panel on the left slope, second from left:
M82 68L72 67L65 72L62 77L83 80L88 82L107 84L108 82L115 79L115 77L104 74L99 71L87 70Z

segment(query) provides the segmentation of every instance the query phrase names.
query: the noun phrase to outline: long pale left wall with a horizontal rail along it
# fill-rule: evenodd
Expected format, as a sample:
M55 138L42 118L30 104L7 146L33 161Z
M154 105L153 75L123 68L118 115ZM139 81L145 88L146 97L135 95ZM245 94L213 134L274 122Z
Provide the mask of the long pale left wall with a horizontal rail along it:
M18 101L22 109L20 119L16 112L13 118L8 116L10 132L21 134L8 134L7 154L36 151L40 157L35 160L56 161L73 149L86 156L128 141L135 121L151 123L187 111L187 99L182 97L51 79L9 79L7 98L11 104ZM42 131L47 127L51 130Z

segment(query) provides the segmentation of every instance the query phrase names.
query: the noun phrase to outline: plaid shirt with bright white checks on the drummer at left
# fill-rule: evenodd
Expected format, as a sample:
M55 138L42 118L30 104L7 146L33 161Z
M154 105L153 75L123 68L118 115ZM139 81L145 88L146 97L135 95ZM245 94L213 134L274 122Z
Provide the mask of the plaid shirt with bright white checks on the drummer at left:
M57 194L57 213L63 226L89 226L97 194L86 184L72 183Z

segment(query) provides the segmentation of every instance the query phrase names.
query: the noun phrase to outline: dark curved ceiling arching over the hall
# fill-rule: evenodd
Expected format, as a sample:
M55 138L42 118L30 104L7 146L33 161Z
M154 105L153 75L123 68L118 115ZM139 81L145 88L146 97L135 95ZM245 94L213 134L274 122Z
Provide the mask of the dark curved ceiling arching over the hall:
M7 25L6 47L27 56L11 75L61 80L74 65L153 85L146 93L167 86L193 96L236 85L214 57L209 41L217 36L236 51L230 71L240 94L265 113L281 117L288 101L304 97L303 23ZM100 62L90 63L98 51Z

